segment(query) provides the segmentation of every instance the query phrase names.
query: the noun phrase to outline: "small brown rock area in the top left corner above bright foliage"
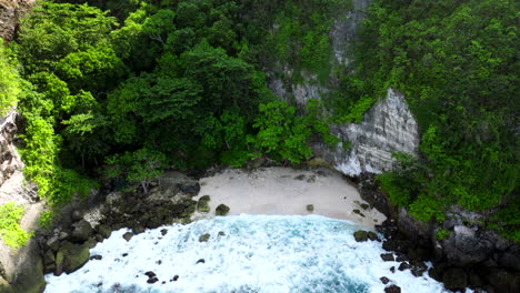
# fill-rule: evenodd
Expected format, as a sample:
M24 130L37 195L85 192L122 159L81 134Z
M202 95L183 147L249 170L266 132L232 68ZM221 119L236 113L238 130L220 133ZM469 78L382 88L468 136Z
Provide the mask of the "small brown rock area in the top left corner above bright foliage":
M18 30L18 21L36 0L0 0L0 37L11 41Z

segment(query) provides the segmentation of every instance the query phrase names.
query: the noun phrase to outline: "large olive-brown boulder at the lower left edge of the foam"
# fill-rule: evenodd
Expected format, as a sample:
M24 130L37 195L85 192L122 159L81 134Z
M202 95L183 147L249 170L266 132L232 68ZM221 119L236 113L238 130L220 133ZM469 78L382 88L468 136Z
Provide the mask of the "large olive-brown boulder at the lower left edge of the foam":
M89 260L89 246L87 244L73 244L63 242L56 254L56 275L62 272L72 273L83 266Z

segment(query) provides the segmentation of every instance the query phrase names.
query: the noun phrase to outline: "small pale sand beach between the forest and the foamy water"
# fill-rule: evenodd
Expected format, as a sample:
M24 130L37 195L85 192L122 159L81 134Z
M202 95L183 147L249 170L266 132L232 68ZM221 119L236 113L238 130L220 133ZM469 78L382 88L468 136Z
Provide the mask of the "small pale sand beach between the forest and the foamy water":
M201 179L200 183L201 190L196 200L210 195L211 211L208 214L197 213L196 218L214 216L216 208L223 203L231 209L230 215L313 213L350 220L367 229L373 229L374 224L386 219L376 209L362 209L366 202L356 188L341 174L328 169L228 169ZM313 205L313 212L307 210L308 204Z

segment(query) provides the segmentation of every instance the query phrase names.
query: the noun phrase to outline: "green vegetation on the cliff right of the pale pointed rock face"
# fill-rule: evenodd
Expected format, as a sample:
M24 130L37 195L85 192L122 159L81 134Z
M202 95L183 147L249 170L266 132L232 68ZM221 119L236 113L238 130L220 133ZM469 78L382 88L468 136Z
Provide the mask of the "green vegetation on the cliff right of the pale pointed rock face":
M403 91L422 132L420 160L400 155L401 169L380 182L419 220L441 221L451 204L518 211L518 9L491 0L371 6L360 73ZM520 241L518 213L499 218L494 228Z

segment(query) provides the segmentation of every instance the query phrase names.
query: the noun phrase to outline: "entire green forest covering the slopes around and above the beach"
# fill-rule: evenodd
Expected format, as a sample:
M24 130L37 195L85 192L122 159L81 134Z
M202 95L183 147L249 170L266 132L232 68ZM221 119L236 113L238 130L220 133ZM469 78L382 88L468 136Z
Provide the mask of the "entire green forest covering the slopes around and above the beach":
M391 200L423 221L452 204L493 209L488 225L520 240L518 1L376 0L349 48L356 61L332 68L329 32L352 8L39 1L0 48L0 112L18 97L26 175L59 205L108 179L146 191L166 168L298 164L311 139L337 142L328 124L359 122L392 87L422 142L419 159L396 154L400 168L379 176ZM291 82L306 71L336 87L297 108L267 88L283 65Z

